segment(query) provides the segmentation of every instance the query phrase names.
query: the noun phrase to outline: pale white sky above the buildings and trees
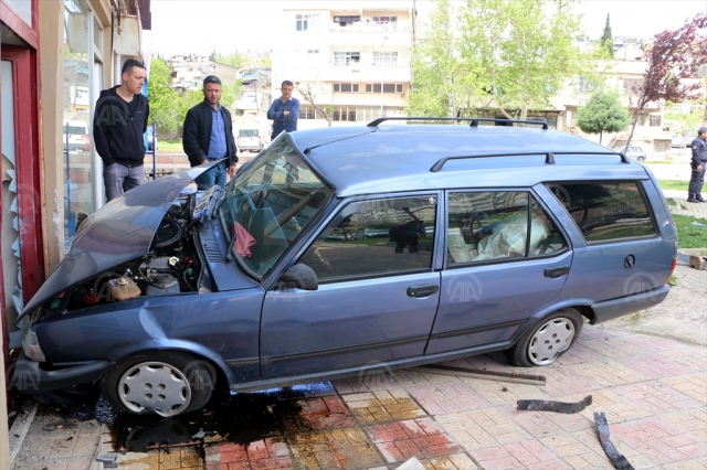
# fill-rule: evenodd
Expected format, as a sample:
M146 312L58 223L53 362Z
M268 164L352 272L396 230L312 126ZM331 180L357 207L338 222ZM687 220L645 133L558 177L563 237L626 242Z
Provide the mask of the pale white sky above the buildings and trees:
M331 6L339 0L309 3ZM409 7L412 0L395 0ZM422 17L433 0L414 0ZM357 4L380 4L359 0ZM234 51L267 51L286 47L281 38L285 28L283 8L302 4L298 0L152 0L152 51L163 56ZM291 8L292 8L291 7ZM606 13L611 14L614 38L651 38L676 29L697 13L707 13L707 0L582 0L576 9L590 39L599 39Z

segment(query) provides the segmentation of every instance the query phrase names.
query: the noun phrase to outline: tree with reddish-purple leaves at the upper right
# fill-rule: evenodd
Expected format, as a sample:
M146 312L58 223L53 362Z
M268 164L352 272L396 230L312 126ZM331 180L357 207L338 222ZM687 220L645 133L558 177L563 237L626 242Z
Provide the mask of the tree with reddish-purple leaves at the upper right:
M644 50L648 67L641 84L633 89L637 97L632 100L633 125L626 146L648 103L682 103L700 94L700 83L686 84L684 81L696 77L699 68L707 64L707 14L699 13L683 26L663 31L654 38L653 45Z

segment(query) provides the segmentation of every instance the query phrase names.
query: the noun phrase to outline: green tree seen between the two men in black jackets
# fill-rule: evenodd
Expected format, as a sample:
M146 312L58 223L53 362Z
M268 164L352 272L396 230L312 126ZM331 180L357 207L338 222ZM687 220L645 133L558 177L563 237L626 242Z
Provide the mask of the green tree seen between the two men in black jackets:
M147 81L147 96L150 104L150 122L161 131L173 132L183 122L179 107L175 106L179 95L171 87L172 76L169 65L159 57L152 56L150 75Z

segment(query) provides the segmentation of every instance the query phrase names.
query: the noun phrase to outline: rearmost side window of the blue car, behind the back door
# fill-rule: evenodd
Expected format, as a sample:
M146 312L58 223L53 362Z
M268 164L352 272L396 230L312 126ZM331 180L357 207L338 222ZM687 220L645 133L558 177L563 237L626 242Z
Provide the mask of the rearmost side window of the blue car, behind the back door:
M546 183L568 210L587 243L654 236L655 226L639 183Z

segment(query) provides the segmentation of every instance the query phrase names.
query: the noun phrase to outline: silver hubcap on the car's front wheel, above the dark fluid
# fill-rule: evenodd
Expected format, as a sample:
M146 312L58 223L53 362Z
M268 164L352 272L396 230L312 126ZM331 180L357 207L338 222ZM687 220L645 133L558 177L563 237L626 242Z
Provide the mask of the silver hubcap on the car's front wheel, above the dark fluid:
M160 416L178 415L191 402L191 386L184 374L163 362L130 367L120 377L118 394L133 413L152 410Z

